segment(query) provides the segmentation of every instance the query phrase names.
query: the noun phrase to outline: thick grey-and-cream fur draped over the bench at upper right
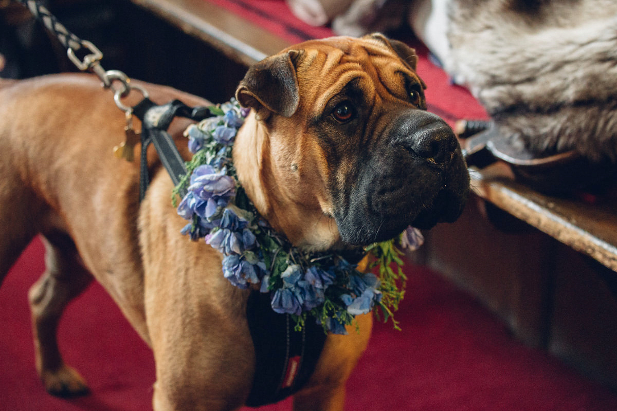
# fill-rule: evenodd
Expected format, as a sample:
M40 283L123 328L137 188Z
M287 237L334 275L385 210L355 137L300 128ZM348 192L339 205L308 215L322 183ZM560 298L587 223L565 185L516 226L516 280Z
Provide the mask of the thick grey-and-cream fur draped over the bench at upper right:
M539 155L617 163L615 0L452 0L445 68Z

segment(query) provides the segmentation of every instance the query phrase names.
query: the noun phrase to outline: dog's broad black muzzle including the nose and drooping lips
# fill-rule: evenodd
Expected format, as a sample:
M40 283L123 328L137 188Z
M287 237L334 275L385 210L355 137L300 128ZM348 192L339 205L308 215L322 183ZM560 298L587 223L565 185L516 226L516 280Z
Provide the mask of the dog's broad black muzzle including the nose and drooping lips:
M462 213L469 175L441 118L423 110L399 112L387 119L369 151L335 213L344 242L384 241L410 225L429 229Z

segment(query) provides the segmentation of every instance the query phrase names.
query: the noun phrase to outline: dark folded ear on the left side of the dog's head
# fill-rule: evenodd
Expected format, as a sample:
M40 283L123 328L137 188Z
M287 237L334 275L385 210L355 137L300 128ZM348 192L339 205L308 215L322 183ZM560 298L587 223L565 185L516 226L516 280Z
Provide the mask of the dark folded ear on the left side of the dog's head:
M290 50L255 63L240 82L236 99L264 118L263 109L285 117L296 112L300 91L296 66L301 51Z

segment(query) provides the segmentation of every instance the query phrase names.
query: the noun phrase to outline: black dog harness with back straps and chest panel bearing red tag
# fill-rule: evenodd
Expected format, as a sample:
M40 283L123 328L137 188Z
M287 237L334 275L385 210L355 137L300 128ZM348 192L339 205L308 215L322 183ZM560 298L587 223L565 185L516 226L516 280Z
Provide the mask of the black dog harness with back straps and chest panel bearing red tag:
M133 107L133 114L141 120L141 201L150 181L147 147L154 144L163 166L177 185L187 170L167 128L176 116L201 121L213 115L207 107L191 108L180 100L156 105L147 98ZM305 322L302 331L296 331L291 315L273 311L269 293L253 291L246 315L255 347L255 376L246 405L258 407L280 401L307 383L323 349L326 333L312 320Z

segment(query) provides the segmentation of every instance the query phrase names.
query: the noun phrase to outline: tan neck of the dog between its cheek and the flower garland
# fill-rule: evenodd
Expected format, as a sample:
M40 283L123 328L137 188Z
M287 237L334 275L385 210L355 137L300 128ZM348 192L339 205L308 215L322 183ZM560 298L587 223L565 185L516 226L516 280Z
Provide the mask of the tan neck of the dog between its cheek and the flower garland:
M293 245L320 251L341 246L336 221L318 207L294 201L282 192L277 166L270 155L267 126L252 110L236 135L233 160L238 181L257 211Z

